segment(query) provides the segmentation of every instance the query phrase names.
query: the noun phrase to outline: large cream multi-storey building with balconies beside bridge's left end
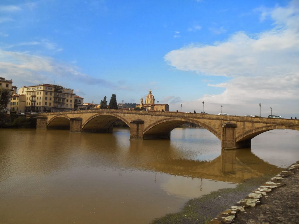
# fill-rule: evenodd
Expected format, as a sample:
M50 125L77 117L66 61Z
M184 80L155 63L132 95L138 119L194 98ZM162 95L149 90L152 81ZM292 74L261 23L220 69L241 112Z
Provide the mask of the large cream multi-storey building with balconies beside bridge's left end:
M25 113L74 110L74 89L60 85L39 84L19 88L18 93L26 95Z

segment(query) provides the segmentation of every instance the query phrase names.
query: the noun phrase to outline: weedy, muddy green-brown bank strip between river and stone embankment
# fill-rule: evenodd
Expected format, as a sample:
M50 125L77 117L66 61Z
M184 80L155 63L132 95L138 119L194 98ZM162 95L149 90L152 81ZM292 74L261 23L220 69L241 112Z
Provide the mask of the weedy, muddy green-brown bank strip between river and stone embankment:
M246 197L250 192L271 179L271 177L273 175L244 180L236 188L220 189L189 200L180 212L167 214L164 217L155 219L152 224L208 223L212 218Z

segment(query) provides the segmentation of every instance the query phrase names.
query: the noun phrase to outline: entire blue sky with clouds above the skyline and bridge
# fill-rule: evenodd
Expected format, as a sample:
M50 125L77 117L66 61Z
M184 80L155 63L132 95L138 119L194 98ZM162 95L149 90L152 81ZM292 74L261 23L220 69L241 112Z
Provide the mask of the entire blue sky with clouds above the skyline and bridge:
M170 111L299 117L299 0L1 0L0 76L90 103L151 89Z

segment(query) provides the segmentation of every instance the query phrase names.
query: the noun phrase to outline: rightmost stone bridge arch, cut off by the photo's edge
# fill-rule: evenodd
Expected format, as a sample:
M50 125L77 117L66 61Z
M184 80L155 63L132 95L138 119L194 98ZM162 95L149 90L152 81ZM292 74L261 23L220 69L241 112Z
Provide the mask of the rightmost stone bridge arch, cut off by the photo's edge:
M256 128L254 130L250 130L247 131L246 133L242 134L241 136L238 136L236 138L236 142L242 142L242 141L246 141L246 140L251 140L253 139L255 136L258 136L259 134L262 134L266 131L271 131L274 129L290 129L290 130L297 130L299 131L298 127L294 127L294 126L283 126L283 125L271 125L271 126L263 126L260 128Z

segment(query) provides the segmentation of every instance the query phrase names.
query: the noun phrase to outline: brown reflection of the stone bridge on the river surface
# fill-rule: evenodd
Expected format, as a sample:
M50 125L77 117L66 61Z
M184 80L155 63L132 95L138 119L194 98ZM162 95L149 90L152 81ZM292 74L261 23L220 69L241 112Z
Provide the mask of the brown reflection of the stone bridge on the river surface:
M172 156L170 155L149 160L148 158L154 157L155 151L142 149L150 148L151 141L131 141L128 156L138 154L141 160L147 161L146 166L148 168L157 172L225 182L242 182L244 179L261 177L265 174L277 174L283 170L263 161L254 155L250 148L222 150L221 154L212 161L179 159L176 158L176 155L173 155L175 159L171 159ZM169 142L161 141L160 144L164 153L176 153L173 150L167 150L170 148Z

